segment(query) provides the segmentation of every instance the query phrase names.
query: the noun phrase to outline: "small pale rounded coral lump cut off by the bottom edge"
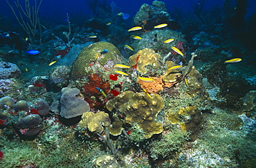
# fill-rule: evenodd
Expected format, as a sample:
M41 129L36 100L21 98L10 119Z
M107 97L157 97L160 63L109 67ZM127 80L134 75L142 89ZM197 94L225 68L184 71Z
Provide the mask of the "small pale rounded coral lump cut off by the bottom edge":
M103 155L96 158L94 166L99 168L120 168L116 159L110 155Z

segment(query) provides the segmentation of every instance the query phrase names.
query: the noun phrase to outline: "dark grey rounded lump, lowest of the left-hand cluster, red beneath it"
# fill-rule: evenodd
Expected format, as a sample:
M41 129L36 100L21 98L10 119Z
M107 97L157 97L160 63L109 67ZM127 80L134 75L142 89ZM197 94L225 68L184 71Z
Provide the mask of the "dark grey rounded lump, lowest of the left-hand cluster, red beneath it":
M40 117L40 115L30 114L30 115L27 115L25 118L20 118L17 121L16 127L19 129L26 129L26 128L30 129L37 126L38 124L41 124L41 122L42 122L42 118Z

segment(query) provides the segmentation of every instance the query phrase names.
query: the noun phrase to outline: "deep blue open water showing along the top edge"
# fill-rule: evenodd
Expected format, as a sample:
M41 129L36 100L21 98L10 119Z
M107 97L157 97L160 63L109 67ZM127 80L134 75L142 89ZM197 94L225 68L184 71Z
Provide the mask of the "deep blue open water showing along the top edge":
M10 10L8 4L5 0L0 0L0 15L4 17L13 18L14 15ZM13 0L9 0L10 3L13 3ZM19 0L20 3L24 3L23 0ZM37 0L39 1L39 0ZM167 6L167 10L173 10L174 7L181 8L183 12L191 12L196 0L163 0ZM33 1L31 1L33 2ZM111 0L110 0L111 2ZM114 1L116 6L121 9L122 12L127 12L133 17L138 12L140 6L143 3L152 4L152 1L146 0L116 0ZM208 0L205 4L205 9L209 9L212 6L222 6L222 0ZM255 12L256 10L256 0L251 0L248 8L248 15ZM42 6L39 10L39 17L42 19L48 19L48 21L63 21L66 19L66 13L69 15L79 14L81 21L83 22L85 18L89 18L91 14L89 8L86 6L85 0L43 0ZM15 21L15 20L13 20ZM59 23L55 23L59 24Z

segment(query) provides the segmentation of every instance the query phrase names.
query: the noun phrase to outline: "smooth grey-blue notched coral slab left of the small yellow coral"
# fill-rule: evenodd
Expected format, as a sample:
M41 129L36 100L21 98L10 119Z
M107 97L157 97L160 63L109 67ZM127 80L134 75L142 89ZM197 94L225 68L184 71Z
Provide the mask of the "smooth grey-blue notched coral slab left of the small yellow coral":
M89 104L76 97L79 93L78 88L62 88L62 97L60 98L60 115L62 117L75 118L90 111Z

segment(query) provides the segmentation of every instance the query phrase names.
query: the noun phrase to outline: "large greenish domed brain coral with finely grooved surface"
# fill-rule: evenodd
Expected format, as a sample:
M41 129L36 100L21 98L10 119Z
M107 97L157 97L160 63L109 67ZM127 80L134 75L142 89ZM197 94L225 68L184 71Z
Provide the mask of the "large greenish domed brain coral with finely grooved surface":
M101 57L98 57L97 59L102 66L107 64L109 60L113 60L121 55L118 48L111 43L104 41L93 43L84 48L84 50L82 50L75 59L71 68L71 80L76 80L84 77L85 75L90 75L87 67L89 64L95 62L95 56L97 53L101 53L104 49L107 49L109 52L102 54Z

